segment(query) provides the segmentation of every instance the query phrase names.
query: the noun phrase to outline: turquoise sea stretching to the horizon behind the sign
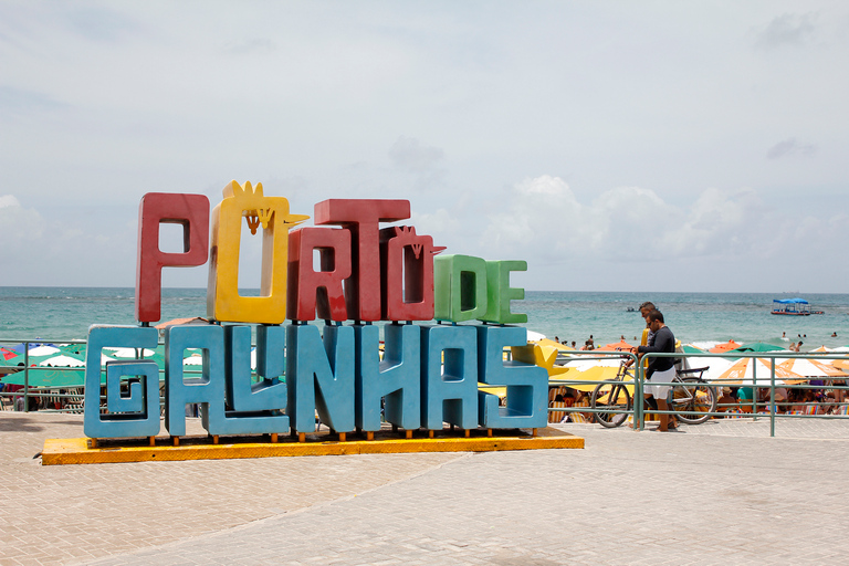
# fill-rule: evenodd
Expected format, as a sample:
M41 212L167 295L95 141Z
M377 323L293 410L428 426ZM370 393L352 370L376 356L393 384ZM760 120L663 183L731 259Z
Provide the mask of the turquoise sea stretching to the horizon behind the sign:
M244 294L256 294L245 291ZM769 314L767 293L593 293L527 291L512 311L526 313L528 329L578 346L593 335L596 346L633 342L644 323L637 308L652 301L667 325L684 344L766 342L786 346L804 342L803 350L849 345L849 294L804 294L821 315ZM0 340L85 339L92 324L136 324L132 287L0 287ZM163 318L206 316L206 289L163 290ZM782 339L782 334L786 338ZM832 334L837 333L837 337Z

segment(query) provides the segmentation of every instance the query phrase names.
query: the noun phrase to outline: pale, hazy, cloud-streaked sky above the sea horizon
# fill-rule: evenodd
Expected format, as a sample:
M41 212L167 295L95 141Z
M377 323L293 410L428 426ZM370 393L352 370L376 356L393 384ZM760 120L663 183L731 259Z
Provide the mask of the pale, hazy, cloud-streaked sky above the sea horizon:
M526 290L847 293L848 125L839 1L3 1L0 285L134 286L142 197L237 180Z

